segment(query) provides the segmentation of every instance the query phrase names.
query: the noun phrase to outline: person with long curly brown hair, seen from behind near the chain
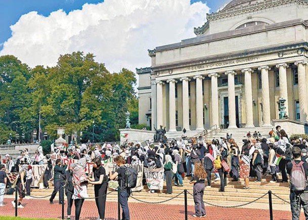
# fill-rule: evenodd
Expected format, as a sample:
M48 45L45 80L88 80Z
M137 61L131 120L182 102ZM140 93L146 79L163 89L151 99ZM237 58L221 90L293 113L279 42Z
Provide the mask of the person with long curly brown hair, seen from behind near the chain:
M205 217L206 211L203 202L203 194L204 194L204 181L207 175L206 172L200 162L195 163L195 172L193 181L190 183L194 184L194 203L195 203L195 213L194 217Z

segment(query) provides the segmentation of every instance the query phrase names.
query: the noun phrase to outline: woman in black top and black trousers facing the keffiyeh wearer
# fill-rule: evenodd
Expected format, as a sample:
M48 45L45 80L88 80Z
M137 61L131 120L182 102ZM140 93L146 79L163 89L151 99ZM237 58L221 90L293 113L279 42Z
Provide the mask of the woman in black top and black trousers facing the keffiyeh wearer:
M93 177L89 180L90 184L94 184L95 203L100 215L99 220L105 219L108 179L106 178L106 170L98 157L93 160Z

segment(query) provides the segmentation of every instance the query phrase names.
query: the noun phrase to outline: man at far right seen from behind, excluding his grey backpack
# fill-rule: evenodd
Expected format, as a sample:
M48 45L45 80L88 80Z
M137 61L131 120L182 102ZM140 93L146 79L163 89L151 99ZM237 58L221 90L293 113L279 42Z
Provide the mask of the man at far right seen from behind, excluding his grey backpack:
M296 164L299 164L301 161L301 150L298 147L292 148L292 155L294 158L294 161L291 161L287 164L287 173L291 175L292 168L293 168L293 162ZM302 166L305 171L305 178L308 177L308 163L303 162ZM300 216L300 209L301 206L304 209L304 214L306 219L308 219L308 186L306 185L306 188L303 191L296 191L295 187L291 183L290 187L290 203L291 203L291 212L292 212L292 220L299 219Z

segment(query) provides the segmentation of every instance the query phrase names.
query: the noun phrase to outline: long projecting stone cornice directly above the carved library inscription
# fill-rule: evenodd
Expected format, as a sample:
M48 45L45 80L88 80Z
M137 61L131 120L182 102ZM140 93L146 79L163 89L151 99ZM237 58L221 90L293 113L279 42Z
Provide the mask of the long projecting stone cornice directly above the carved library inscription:
M198 64L209 64L214 63L218 61L228 61L232 59L240 59L240 58L247 58L247 57L253 57L258 56L262 54L268 54L268 53L281 53L283 51L288 51L292 49L300 49L300 50L308 50L308 42L300 42L300 43L294 43L291 45L284 45L279 47L268 47L263 49L256 49L251 51L244 51L241 53L235 53L232 55L221 55L221 56L210 56L210 57L201 57L198 59L191 59L187 61L179 61L171 64L162 64L159 66L152 67L154 72L157 71L163 71L163 70L170 70L173 68L183 68L183 67L189 67L192 65L198 65ZM206 60L206 62L204 62Z

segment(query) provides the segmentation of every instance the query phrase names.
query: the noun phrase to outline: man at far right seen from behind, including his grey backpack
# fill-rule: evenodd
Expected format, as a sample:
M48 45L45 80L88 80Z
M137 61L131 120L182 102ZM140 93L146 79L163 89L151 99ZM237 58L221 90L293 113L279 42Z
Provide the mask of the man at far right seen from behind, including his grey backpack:
M306 219L308 218L308 163L301 161L301 150L292 148L294 161L287 164L287 173L290 175L290 203L292 220L299 219L301 206Z

